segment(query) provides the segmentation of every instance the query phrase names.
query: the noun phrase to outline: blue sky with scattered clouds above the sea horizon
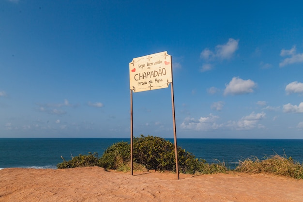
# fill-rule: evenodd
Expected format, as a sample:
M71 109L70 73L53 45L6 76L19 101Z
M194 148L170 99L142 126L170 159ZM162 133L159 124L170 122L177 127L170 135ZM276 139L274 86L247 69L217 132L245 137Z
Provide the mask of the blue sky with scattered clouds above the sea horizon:
M303 138L301 1L0 0L0 138L130 137L129 62L172 56L178 138ZM134 135L173 138L170 88Z

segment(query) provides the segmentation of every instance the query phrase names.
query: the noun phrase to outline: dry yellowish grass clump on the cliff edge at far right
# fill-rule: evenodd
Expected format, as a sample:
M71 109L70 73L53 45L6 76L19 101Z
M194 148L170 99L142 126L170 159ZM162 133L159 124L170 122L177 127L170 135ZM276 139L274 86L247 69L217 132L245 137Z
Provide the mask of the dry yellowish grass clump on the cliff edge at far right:
M239 166L235 171L246 173L267 172L303 179L303 165L294 161L291 157L287 158L286 155L265 156L264 160L259 160L257 157L247 158L243 161L239 160Z

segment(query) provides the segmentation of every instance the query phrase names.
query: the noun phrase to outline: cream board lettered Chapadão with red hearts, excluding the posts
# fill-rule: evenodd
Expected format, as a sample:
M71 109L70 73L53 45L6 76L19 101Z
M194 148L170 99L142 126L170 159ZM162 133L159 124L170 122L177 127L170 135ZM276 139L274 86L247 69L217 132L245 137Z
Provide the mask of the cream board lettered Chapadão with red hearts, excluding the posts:
M167 88L172 82L171 67L167 51L134 58L129 63L130 90L136 93Z

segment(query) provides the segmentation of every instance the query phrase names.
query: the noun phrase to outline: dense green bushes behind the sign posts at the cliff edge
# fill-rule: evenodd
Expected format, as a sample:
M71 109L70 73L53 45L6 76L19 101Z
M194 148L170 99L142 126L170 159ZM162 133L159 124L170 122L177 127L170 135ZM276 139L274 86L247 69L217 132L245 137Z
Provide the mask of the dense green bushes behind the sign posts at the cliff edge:
M174 144L159 137L143 136L133 140L133 161L139 170L176 171ZM179 171L182 173L216 173L225 172L224 164L208 164L204 159L178 147ZM106 149L101 158L91 153L79 155L70 161L63 161L58 168L75 168L83 166L100 166L105 169L130 170L130 144L118 142ZM142 168L143 166L143 168Z

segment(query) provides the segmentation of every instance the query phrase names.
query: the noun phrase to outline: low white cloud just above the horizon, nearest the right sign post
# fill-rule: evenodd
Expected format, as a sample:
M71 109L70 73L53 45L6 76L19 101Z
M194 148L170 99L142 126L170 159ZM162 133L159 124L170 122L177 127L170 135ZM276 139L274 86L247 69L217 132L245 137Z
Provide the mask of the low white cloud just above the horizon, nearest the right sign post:
M200 119L198 120L187 117L180 126L182 129L190 129L197 131L217 129L221 127L221 125L215 123L218 118L218 116L214 116L212 114L207 117L200 117Z

